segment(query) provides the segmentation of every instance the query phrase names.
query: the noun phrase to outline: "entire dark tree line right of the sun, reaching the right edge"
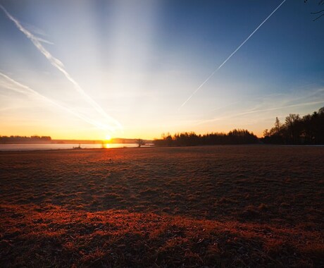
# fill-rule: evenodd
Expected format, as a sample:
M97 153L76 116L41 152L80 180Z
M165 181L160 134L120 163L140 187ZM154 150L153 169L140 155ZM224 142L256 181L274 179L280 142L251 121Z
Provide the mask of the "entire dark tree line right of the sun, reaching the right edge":
M156 146L195 146L195 145L239 145L239 144L282 144L282 145L324 145L324 107L313 114L299 116L289 114L285 123L275 118L275 126L263 131L263 138L245 129L234 129L229 133L207 133L197 135L194 132L162 134L154 140Z

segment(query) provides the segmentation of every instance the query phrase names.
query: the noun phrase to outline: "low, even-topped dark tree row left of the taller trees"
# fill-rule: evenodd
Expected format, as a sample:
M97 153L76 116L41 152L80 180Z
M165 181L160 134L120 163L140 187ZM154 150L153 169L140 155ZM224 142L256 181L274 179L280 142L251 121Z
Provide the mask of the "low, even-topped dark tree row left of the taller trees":
M195 145L237 145L257 143L258 138L244 129L234 129L229 133L207 133L197 135L194 132L163 134L154 140L156 146L195 146Z

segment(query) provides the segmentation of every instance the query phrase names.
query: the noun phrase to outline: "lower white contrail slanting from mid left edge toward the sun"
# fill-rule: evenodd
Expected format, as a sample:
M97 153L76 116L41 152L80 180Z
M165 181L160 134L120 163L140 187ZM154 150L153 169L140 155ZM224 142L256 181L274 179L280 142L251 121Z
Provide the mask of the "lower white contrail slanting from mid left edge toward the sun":
M21 93L24 95L28 95L28 96L34 96L39 99L42 99L45 102L49 102L50 104L53 104L54 106L56 106L60 109L63 109L65 111L68 111L68 113L73 114L74 116L77 116L77 118L80 118L81 120L92 124L92 126L96 126L96 128L109 130L111 132L113 132L115 130L111 126L94 121L90 118L87 118L87 116L84 116L83 114L80 114L77 111L74 111L73 109L70 109L66 106L63 106L62 104L58 104L57 102L54 102L54 100L49 99L48 97L45 97L44 95L41 95L39 92L32 90L27 85L23 85L23 84L17 82L16 80L13 80L12 78L8 77L8 75L5 75L4 73L0 73L0 76L2 76L3 78L5 78L7 81L9 81L11 83L11 85L4 85L4 87L6 87L6 89L8 89L8 90L13 90L15 92L18 92L18 93Z

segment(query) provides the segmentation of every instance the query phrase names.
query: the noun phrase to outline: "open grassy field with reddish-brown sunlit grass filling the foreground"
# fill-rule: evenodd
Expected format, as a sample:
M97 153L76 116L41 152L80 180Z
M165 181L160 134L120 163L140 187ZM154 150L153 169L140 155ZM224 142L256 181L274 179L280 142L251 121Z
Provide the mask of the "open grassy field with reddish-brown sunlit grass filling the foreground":
M0 153L0 267L320 267L324 147Z

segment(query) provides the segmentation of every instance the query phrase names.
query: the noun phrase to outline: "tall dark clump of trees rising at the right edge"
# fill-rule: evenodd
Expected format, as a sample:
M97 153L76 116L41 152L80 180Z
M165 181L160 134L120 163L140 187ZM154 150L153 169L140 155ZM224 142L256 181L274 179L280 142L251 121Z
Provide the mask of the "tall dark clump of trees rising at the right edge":
M324 107L313 114L300 117L289 114L285 123L275 118L275 126L263 132L263 142L292 145L323 145L324 144Z

